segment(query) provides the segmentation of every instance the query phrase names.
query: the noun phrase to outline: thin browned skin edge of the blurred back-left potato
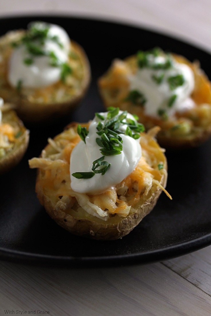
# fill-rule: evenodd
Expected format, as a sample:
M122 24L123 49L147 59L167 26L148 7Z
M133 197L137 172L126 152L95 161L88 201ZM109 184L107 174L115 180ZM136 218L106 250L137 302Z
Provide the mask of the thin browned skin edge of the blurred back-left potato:
M0 37L0 45L8 45L9 42L15 41L15 39L19 38L24 32L24 30L9 31ZM0 96L3 97L5 102L13 103L13 108L16 110L17 115L25 123L30 125L37 124L37 122L42 124L52 123L58 118L62 118L73 112L83 100L91 81L90 62L82 46L74 40L71 40L71 45L80 56L84 67L84 78L81 82L80 92L71 97L70 100L49 103L30 102L26 96L19 93L14 94L15 88L9 86L8 91L11 92L13 97L11 99L9 95L5 98L1 93L0 87ZM16 96L14 97L14 95Z

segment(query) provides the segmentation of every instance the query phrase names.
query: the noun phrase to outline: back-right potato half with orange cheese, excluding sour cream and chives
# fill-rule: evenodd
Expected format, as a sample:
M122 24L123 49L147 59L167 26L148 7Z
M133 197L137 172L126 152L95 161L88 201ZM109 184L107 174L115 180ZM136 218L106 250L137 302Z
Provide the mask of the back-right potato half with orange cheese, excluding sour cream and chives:
M99 93L107 107L116 106L137 114L146 129L160 126L158 143L164 148L187 149L199 146L211 136L211 84L200 69L199 63L191 63L183 56L171 55L179 63L187 64L194 72L195 88L191 98L196 106L169 119L155 119L145 115L144 106L126 101L129 93L128 76L138 68L136 56L125 60L116 59L109 70L98 80Z

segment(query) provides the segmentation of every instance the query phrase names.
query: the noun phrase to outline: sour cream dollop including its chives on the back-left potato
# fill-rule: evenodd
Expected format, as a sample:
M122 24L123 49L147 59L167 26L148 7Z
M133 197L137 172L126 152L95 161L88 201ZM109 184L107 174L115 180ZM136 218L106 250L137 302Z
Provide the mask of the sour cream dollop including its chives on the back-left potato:
M33 37L34 30L38 35ZM67 61L70 51L66 31L55 24L33 22L29 24L26 35L29 40L22 40L9 60L10 85L16 88L21 82L22 87L40 88L59 81L60 65ZM39 54L39 50L43 53ZM58 66L52 65L55 59Z

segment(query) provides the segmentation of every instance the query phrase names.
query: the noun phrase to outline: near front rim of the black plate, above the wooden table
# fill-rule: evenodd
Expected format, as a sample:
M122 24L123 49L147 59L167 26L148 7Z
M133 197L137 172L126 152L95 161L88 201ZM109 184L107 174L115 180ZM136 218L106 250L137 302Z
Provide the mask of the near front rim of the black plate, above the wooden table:
M115 267L122 265L143 265L151 264L177 258L191 252L198 251L210 246L211 233L191 239L177 245L160 249L145 251L142 253L128 253L124 255L109 256L56 256L33 252L20 251L15 249L5 250L0 247L0 257L4 261L15 261L20 264L42 265L48 267L69 267L69 268L96 268ZM182 250L182 251L181 251ZM33 260L33 262L31 261Z

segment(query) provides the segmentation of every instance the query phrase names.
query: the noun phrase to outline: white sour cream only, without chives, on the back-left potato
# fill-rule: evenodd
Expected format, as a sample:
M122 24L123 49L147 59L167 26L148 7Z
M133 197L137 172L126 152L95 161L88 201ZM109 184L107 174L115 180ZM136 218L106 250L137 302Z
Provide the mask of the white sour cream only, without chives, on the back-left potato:
M37 41L35 45L46 53L53 52L60 63L65 63L68 59L68 52L70 51L70 39L66 31L54 24L47 24L44 22L34 22L29 24L29 28L35 26L43 30L49 27L47 39L44 40L42 46ZM58 42L52 40L53 37L58 38ZM27 65L24 63L26 59L32 59L33 63ZM9 60L8 81L13 87L18 86L21 82L22 87L26 88L40 88L51 85L60 79L61 69L59 66L51 66L49 56L34 56L27 50L26 45L21 44L16 47Z

